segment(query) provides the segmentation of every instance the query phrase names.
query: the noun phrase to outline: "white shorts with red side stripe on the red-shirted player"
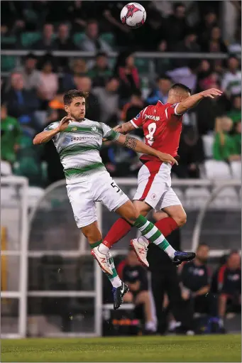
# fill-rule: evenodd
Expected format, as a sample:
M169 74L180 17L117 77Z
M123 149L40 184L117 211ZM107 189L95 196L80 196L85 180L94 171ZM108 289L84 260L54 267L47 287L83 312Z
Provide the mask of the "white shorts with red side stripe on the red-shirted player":
M148 161L138 172L138 188L133 200L144 200L156 212L171 205L181 205L179 198L171 188L168 163L160 165L157 161Z

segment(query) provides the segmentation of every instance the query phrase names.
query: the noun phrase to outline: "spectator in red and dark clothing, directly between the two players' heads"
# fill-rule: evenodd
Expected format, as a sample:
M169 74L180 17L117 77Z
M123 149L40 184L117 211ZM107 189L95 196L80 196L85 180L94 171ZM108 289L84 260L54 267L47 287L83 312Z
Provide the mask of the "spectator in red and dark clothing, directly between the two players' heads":
M138 70L134 65L133 53L131 51L121 52L116 60L114 76L120 80L120 103L128 102L131 94L141 87Z

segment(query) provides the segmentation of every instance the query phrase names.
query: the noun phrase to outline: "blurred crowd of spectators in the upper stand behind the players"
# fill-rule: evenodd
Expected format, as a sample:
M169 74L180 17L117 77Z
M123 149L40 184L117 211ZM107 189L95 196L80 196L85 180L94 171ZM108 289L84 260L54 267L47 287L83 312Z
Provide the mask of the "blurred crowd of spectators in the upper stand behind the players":
M221 1L167 3L143 1L147 21L136 31L119 21L123 1L1 4L2 48L31 52L12 69L6 67L8 72L1 79L1 159L11 163L14 173L41 186L64 178L53 143L33 148L31 141L47 124L65 116L62 96L67 90L89 92L87 118L116 126L147 104L167 102L173 82L184 83L192 92L211 87L224 91L219 100L204 100L184 118L180 166L174 168L177 176L199 178L199 165L207 157L202 136L207 134L214 137L214 159L241 160L241 64L236 56L241 51L241 29L238 26L231 43L222 38ZM35 50L45 50L45 55L37 57ZM82 50L95 56L59 58L53 50ZM222 52L228 58L145 62L133 56L134 50ZM118 52L118 57L111 58L111 51ZM4 59L3 55L2 70ZM150 62L153 72L147 69ZM9 58L7 64L11 64ZM143 137L141 131L136 135ZM109 143L104 144L101 156L113 176L136 175L140 166L136 153Z

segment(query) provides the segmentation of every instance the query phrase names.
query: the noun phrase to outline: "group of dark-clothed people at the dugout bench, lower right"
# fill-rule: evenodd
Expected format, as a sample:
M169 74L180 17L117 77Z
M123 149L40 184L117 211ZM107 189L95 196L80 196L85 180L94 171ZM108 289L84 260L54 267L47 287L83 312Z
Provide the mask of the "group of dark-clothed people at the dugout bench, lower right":
M178 273L176 269L170 270L170 274L177 276L177 283L173 281L169 284L175 286L176 293L167 284L161 284L158 289L152 267L150 280L156 319L148 289L148 273L133 250L118 264L119 276L129 287L124 302L134 304L133 314L135 318L143 320L146 332L226 332L226 317L232 318L234 313L241 312L241 256L238 251L224 255L215 269L208 265L207 244L199 244L196 252L196 258L189 264L182 264L177 269ZM105 302L109 298L111 300L105 281L104 293ZM159 306L163 306L163 309L158 309Z

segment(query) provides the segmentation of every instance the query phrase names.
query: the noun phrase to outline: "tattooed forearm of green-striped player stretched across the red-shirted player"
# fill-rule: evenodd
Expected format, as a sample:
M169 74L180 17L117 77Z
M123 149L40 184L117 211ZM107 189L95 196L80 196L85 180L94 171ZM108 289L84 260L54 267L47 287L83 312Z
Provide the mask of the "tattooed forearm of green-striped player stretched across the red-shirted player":
M137 153L146 153L147 155L156 156L160 161L165 163L178 164L175 158L168 153L161 153L160 151L155 150L155 148L150 148L150 146L145 145L145 143L139 141L135 137L119 135L119 138L115 141L120 145L126 146L126 148L131 148L131 150L134 150Z

